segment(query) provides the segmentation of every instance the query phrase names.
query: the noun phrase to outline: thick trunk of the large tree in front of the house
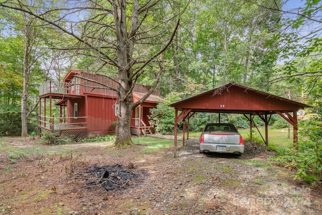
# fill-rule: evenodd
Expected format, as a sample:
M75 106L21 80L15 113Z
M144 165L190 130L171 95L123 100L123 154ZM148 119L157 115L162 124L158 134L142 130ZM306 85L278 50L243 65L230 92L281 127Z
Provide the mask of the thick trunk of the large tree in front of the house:
M116 123L116 140L114 146L122 148L133 145L131 139L131 116L133 110L133 76L130 62L132 60L135 43L135 32L138 24L138 0L133 1L130 31L127 32L126 1L112 3L115 30L118 44L118 73L119 87L117 100L119 109Z

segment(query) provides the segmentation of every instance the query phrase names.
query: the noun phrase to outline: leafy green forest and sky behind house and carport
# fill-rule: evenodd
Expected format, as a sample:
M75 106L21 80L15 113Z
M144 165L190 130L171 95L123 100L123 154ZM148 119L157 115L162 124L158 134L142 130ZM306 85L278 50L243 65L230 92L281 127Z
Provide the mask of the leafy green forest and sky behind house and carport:
M321 172L320 1L120 2L118 8L113 1L0 0L0 135L37 131L44 82L61 85L71 69L120 78L126 54L127 84L157 84L165 98L152 114L160 132L172 129L168 104L228 82L313 106L300 131L307 135L303 152L312 152L307 165L315 162L312 172ZM128 34L123 39L118 10L126 14L119 22ZM211 117L198 114L192 129ZM243 117L227 116L233 120L247 126Z

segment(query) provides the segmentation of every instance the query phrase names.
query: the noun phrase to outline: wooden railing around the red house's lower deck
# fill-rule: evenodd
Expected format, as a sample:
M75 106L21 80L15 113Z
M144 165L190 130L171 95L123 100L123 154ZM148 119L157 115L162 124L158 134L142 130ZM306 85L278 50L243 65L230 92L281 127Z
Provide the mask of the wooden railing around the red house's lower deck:
M70 122L66 122L70 121ZM48 130L64 130L77 127L87 127L87 117L66 117L66 116L38 116L38 126Z

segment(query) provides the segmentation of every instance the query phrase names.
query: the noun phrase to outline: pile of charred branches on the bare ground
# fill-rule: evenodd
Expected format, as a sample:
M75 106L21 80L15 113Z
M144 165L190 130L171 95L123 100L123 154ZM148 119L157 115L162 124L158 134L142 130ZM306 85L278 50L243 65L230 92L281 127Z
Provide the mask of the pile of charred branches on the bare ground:
M86 180L87 188L100 189L106 191L126 189L140 184L146 176L143 170L135 170L132 165L122 166L91 166L83 174L78 174L77 178L82 177Z

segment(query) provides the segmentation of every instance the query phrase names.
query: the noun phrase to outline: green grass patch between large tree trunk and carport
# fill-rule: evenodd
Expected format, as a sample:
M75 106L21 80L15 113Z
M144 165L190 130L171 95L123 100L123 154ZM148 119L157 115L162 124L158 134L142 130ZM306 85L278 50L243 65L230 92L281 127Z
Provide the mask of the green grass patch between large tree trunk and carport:
M132 141L136 145L143 146L143 150L141 151L141 153L143 154L154 154L159 150L170 148L174 144L172 139L162 139L154 137L137 137L133 138Z

